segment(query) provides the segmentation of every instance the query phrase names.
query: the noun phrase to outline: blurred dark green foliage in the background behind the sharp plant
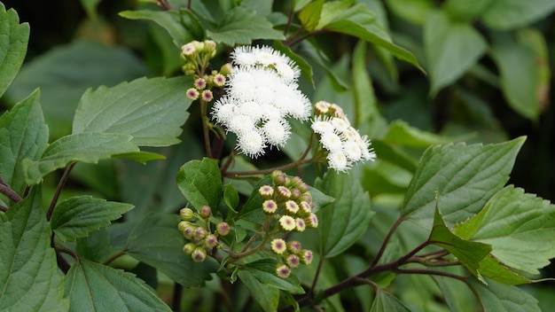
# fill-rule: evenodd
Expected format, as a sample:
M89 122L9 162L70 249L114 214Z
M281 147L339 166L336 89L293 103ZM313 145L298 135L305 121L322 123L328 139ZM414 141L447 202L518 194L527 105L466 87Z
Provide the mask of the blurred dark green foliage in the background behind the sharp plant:
M240 2L193 0L192 7L200 15L217 19L219 9L216 8L220 5ZM388 225L395 220L395 213L387 207L395 206L403 199L418 157L426 145L449 142L453 138L486 144L528 136L509 183L554 201L555 109L550 91L554 87L551 73L555 64L555 2L357 2L374 12L394 43L414 53L426 70L425 74L416 66L395 60L386 51L337 33L311 37L294 49L313 67L316 88L307 79L301 82L309 98L313 102L325 98L347 103L348 115L357 116L354 122L358 121L362 132L370 134L378 156L389 155L395 159L378 161L355 173L371 194L374 209L380 213L374 218L366 237L383 237ZM75 107L88 88L113 86L141 76L180 74L179 51L166 30L151 21L127 20L118 14L138 8L156 10L152 2L4 0L3 3L6 9L13 8L18 12L20 21L29 22L31 36L26 62L2 98L0 109L8 109L32 90L40 88L51 140L70 132ZM277 28L283 28L292 6L291 1L243 0L242 3L268 17ZM187 1L170 1L170 4L179 7L186 5ZM315 46L321 50L317 51ZM227 51L222 51L220 62L225 61ZM365 116L375 114L356 112L356 105L348 105L357 101L367 101L367 107L378 110L383 119L364 123ZM192 115L196 115L195 112ZM198 121L191 118L187 122L194 124ZM389 126L386 127L387 123ZM299 131L302 129L299 126ZM184 199L176 188L175 174L184 161L202 156L198 138L198 133L185 131L182 140L187 144L162 149L167 160L147 166L129 161L106 161L98 166L79 164L73 173L72 187L67 188L65 195L93 191L106 199L135 204L137 208L126 214L129 220L138 219L153 208L176 211ZM286 155L295 155L296 152L293 143L283 152L270 153L258 164L282 161ZM247 164L239 161L237 166ZM54 178L51 191L55 187ZM45 189L47 186L45 183ZM248 191L248 186L243 188ZM371 245L362 246L363 250L372 251L379 247L380 240L362 239L361 242ZM356 263L361 261L355 256L356 247L361 245L329 262L332 266L324 267L324 272L337 271L325 276L356 273ZM347 261L349 266L341 263ZM360 267L363 268L363 263ZM137 266L135 271L145 280L156 283L152 281L152 268ZM545 275L555 276L555 268L546 269ZM397 278L395 283L409 283L403 278ZM410 283L418 285L425 283L423 281L418 278ZM330 285L332 282L324 281ZM161 285L159 289L163 292L164 287ZM208 292L187 292L184 305L188 304L187 300L198 300L199 295L213 295L209 290L217 287L209 283ZM351 295L356 297L358 292L367 292L362 288L357 288ZM412 289L403 294L403 300L422 301L420 306L426 305L427 298L418 298L418 287ZM543 307L555 304L552 296L555 289L549 283L530 285L527 289L535 294ZM357 298L360 300L364 296L359 293ZM242 300L244 302L245 297ZM367 307L370 302L362 300L357 304ZM210 310L213 307L208 305L205 308Z

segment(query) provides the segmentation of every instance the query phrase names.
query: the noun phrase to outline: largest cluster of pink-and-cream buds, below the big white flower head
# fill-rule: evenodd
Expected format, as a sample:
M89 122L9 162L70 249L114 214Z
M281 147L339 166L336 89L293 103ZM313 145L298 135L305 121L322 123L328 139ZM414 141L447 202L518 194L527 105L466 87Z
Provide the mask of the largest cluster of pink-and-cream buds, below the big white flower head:
M269 219L277 219L280 232L302 232L307 228L317 228L318 218L312 212L314 203L309 186L299 176L290 177L277 170L271 174L273 185L262 185L262 210ZM272 253L277 255L276 274L286 278L291 269L309 264L313 255L310 250L301 249L298 241L286 242L284 238L274 238L270 242Z

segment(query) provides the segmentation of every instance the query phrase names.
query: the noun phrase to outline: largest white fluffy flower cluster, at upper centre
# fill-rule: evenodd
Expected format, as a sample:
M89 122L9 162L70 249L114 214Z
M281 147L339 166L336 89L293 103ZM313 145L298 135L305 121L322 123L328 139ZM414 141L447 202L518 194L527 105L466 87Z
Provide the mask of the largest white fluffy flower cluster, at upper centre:
M305 121L309 99L298 90L299 68L268 46L238 47L226 95L215 102L212 117L238 136L238 150L258 157L264 148L281 146L291 135L287 118Z

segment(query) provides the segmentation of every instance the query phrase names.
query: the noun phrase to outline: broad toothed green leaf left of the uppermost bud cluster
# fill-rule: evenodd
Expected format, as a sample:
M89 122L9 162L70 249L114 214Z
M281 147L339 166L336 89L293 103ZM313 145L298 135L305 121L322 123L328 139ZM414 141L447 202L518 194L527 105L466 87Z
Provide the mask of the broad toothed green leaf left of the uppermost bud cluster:
M113 87L87 90L75 112L73 133L113 132L133 136L142 146L176 144L191 100L188 77L140 78Z

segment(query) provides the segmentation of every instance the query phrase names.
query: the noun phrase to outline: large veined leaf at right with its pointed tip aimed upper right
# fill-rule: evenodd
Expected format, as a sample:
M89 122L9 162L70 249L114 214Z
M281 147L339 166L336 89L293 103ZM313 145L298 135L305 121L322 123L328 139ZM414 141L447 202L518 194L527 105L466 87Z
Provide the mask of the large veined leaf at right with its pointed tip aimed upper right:
M437 204L447 225L477 214L509 179L525 137L500 144L447 144L426 149L409 185L402 215L429 229Z

